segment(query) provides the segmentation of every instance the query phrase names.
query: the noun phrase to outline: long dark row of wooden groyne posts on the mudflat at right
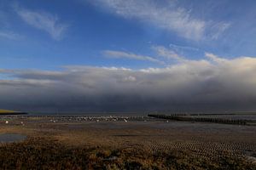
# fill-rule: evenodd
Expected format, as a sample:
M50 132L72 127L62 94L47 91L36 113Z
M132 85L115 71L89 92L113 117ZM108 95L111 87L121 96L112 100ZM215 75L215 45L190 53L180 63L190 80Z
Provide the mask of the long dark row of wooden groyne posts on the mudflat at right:
M155 115L155 114L148 114L148 116L160 118L160 119L180 121L180 122L212 122L212 123L247 125L247 120L241 120L241 119L224 119L224 118L177 116L177 115Z

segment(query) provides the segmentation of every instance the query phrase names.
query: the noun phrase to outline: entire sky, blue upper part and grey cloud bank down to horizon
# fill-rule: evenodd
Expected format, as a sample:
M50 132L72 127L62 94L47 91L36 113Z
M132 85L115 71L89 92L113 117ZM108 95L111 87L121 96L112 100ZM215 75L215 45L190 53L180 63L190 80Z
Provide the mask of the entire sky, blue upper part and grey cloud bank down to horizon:
M253 0L0 0L0 108L256 111Z

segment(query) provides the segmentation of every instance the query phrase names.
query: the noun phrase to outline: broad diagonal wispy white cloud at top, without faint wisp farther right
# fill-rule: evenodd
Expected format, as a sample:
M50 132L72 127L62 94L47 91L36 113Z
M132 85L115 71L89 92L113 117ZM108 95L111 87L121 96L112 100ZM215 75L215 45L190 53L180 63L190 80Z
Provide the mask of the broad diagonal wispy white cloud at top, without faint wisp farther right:
M207 25L204 20L193 17L189 10L177 7L175 1L169 1L166 6L157 5L150 0L96 0L91 3L104 6L125 18L142 20L194 40L204 36Z

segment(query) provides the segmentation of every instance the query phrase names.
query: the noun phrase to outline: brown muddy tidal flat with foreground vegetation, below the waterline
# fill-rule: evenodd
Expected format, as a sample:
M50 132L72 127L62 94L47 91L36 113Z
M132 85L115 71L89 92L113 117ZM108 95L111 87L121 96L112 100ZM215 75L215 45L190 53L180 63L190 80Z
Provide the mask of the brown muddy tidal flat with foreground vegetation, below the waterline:
M256 127L147 116L1 116L1 169L256 169Z

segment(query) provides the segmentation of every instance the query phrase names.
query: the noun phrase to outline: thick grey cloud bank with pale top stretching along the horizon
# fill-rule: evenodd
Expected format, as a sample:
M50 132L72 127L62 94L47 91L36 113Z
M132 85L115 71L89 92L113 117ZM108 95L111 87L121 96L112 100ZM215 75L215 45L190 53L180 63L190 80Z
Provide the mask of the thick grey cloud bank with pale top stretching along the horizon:
M25 111L253 111L256 59L186 60L166 68L0 70L0 108Z

